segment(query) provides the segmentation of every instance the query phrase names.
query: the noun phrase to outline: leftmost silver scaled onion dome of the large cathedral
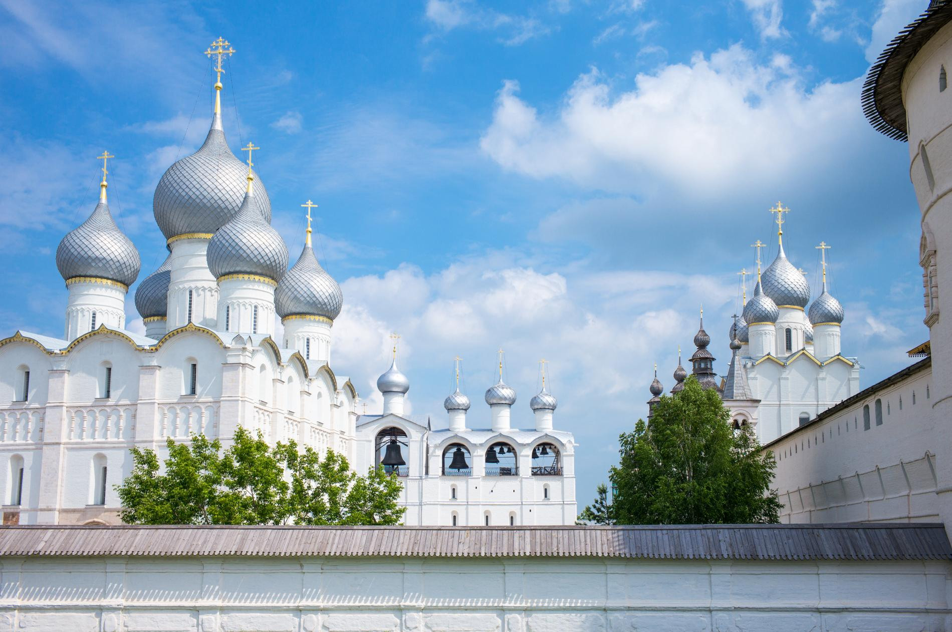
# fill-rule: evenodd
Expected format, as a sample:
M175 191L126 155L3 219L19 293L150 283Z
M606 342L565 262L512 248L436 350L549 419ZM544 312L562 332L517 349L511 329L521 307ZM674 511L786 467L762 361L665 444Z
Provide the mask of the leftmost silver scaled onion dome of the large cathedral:
M67 281L94 277L131 286L141 266L139 251L116 226L109 205L103 200L56 248L56 267Z

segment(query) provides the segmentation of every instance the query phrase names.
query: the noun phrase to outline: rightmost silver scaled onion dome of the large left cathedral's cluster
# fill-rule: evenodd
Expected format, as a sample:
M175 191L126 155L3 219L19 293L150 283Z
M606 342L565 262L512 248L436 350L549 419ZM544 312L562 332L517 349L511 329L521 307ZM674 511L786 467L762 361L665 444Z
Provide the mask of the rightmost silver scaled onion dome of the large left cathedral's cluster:
M305 245L274 290L274 308L281 318L323 316L334 320L344 306L344 293L333 277L317 263L314 249Z

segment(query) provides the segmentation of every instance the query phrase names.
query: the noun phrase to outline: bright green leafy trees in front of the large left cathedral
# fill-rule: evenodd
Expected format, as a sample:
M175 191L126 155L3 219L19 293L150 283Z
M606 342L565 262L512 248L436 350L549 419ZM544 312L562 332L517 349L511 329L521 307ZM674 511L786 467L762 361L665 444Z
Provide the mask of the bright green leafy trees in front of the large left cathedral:
M383 467L367 476L332 450L321 459L294 441L268 446L239 427L222 451L216 439L169 439L162 465L154 450L133 447L132 472L115 485L129 524L399 524L403 485Z

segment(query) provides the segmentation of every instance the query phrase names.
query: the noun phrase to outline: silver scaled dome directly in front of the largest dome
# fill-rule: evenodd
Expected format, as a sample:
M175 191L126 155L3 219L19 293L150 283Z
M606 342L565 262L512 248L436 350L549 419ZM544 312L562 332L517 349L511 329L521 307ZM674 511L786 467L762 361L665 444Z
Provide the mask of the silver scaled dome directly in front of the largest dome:
M245 194L238 213L208 242L208 269L214 277L254 274L275 283L288 269L288 247L261 216L253 191Z

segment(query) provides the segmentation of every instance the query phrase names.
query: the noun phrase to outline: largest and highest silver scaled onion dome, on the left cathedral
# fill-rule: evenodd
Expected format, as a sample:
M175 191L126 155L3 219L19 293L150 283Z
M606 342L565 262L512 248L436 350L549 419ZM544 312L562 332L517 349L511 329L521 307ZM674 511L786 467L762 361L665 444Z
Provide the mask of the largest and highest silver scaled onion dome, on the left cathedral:
M221 114L211 119L205 144L175 162L159 180L152 197L155 222L166 239L188 233L213 234L238 213L245 199L248 165L228 148ZM268 191L258 180L254 205L271 221Z

